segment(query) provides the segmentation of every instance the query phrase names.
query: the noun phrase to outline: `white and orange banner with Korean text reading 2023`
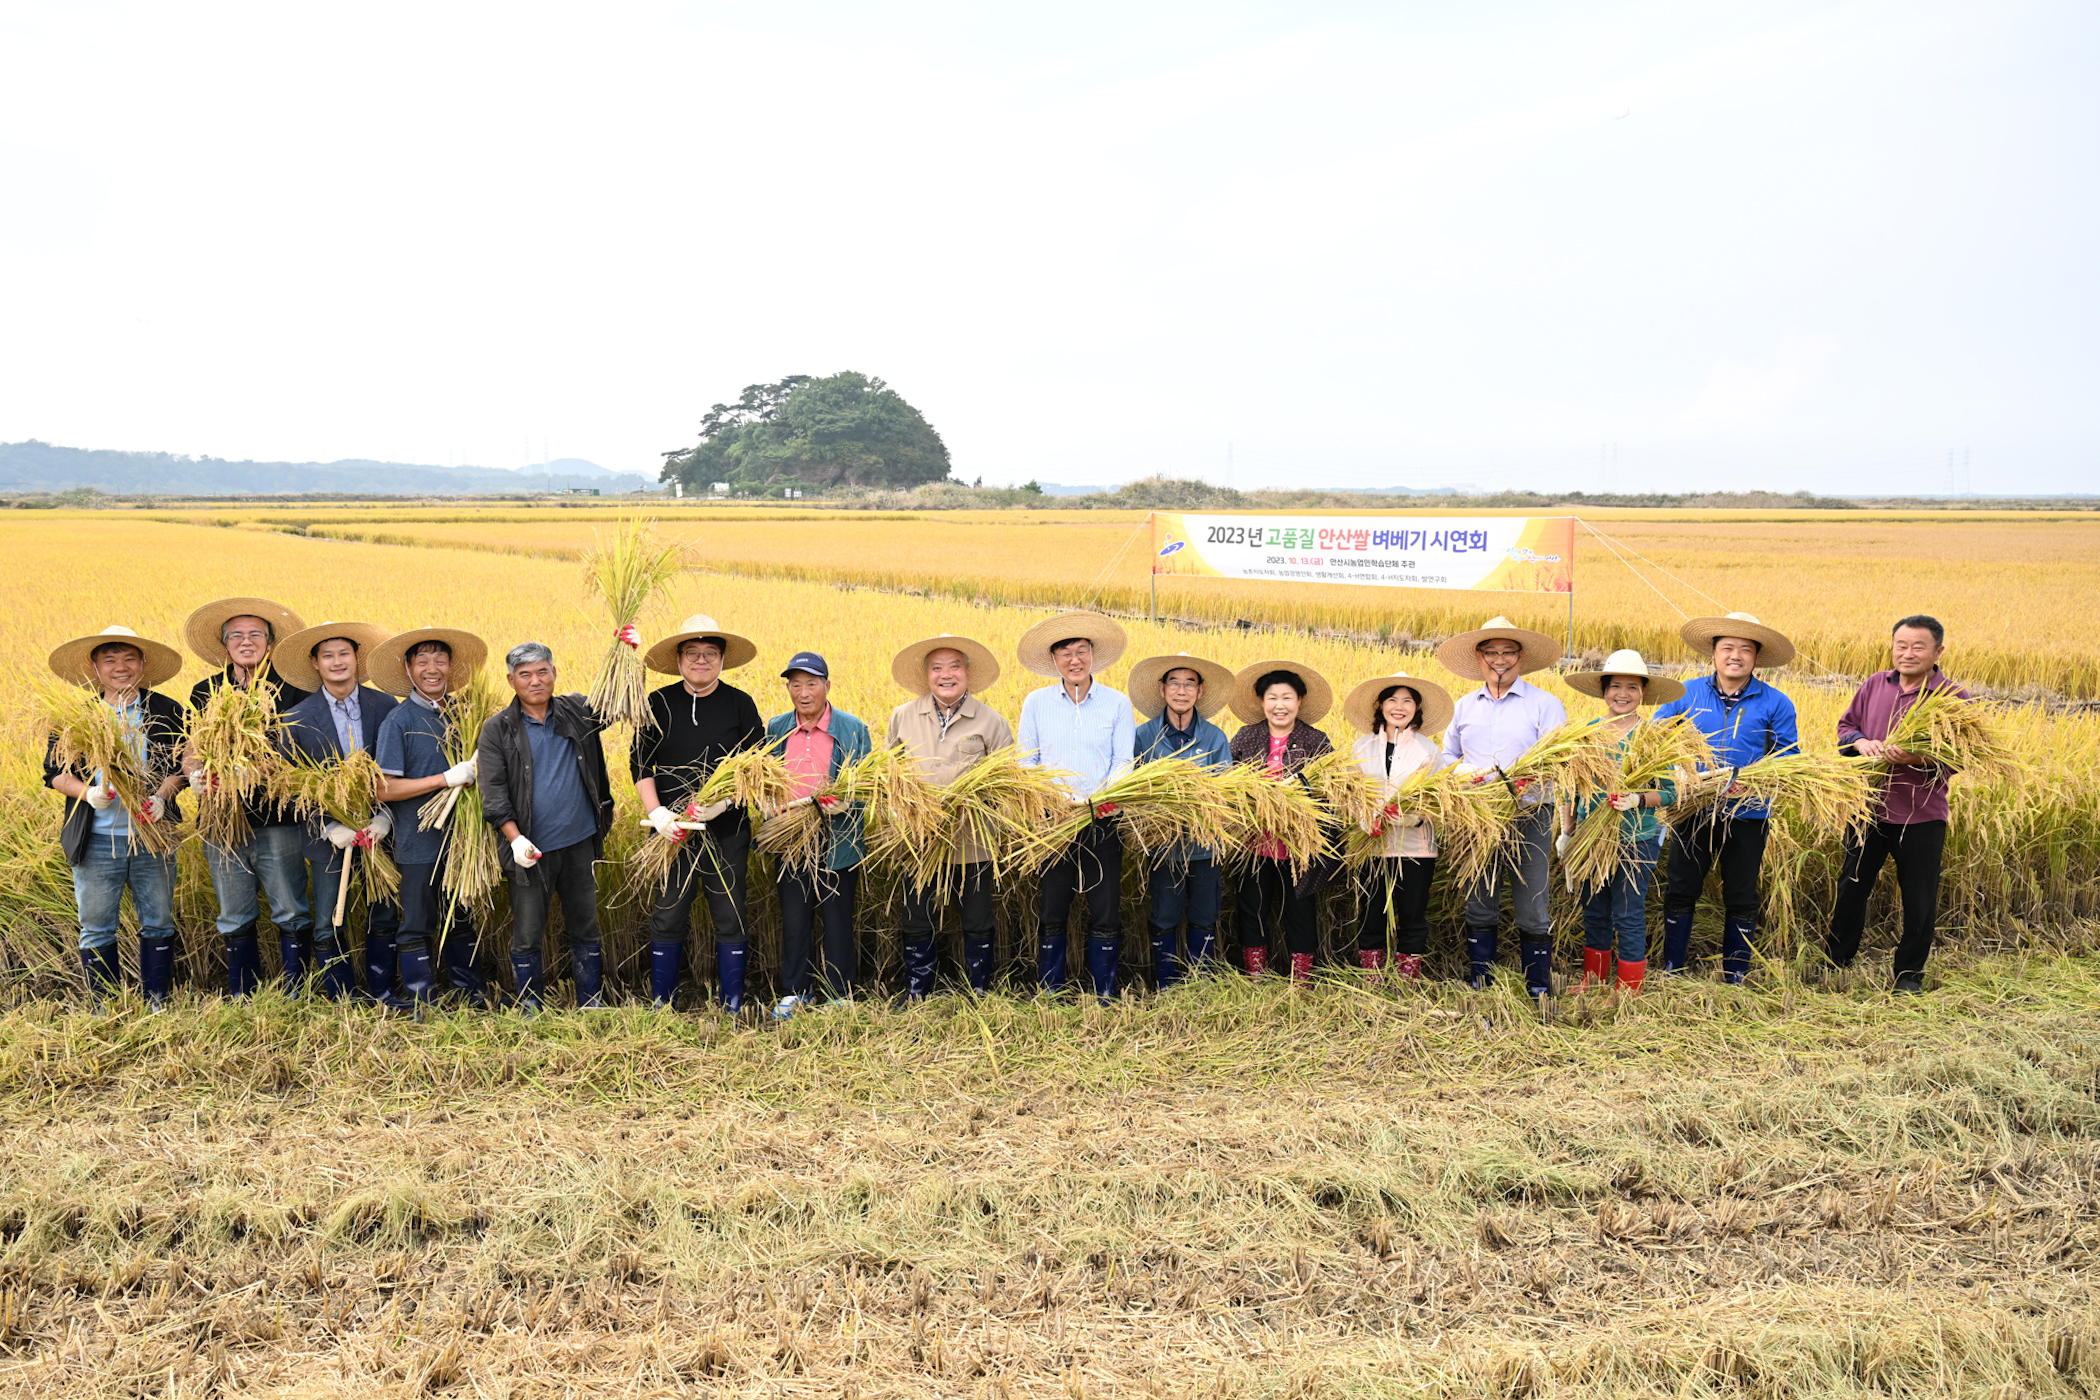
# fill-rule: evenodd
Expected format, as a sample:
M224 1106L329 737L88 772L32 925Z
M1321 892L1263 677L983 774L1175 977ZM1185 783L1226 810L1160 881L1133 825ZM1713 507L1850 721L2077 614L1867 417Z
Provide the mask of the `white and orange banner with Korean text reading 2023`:
M1575 518L1294 518L1155 510L1153 573L1571 594Z

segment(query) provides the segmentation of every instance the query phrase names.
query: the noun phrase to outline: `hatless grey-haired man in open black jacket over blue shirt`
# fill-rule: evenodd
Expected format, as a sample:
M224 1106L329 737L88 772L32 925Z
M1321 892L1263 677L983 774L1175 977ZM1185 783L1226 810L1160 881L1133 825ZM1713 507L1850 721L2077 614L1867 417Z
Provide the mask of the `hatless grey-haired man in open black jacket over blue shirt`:
M508 707L481 726L475 745L481 810L502 833L498 861L510 875L510 972L519 1005L540 1007L542 945L552 900L569 930L575 1005L605 1005L598 947L598 879L613 827L613 787L605 777L605 720L582 695L554 695L554 653L519 642L504 657Z

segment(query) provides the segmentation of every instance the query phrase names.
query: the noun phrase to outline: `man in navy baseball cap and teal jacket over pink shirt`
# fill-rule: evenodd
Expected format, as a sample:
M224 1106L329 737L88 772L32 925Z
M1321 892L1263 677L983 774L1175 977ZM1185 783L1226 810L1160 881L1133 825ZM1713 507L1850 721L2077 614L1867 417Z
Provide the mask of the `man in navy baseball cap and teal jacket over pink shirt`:
M808 1005L811 934L823 919L823 980L832 997L850 997L861 959L853 932L853 898L861 884L861 810L825 793L846 764L867 758L867 724L844 709L832 709L832 667L815 651L798 651L781 672L794 709L766 720L766 747L794 775L790 806L815 804L825 825L825 858L819 871L779 873L781 896L781 982L785 997L773 1007L788 1020Z

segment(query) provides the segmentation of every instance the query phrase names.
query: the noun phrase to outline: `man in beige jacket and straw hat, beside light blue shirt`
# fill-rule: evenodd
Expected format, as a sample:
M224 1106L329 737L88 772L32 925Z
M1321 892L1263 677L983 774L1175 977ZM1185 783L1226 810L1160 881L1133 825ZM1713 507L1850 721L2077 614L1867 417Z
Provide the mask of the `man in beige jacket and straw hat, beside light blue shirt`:
M901 743L920 760L928 783L951 783L987 754L1010 747L1014 730L972 691L1000 678L1000 659L983 642L966 636L930 636L897 653L890 674L914 693L890 712L886 743ZM962 900L962 968L979 993L991 989L991 863L976 842L964 837L945 882ZM905 995L914 1001L932 993L934 932L945 911L945 890L905 884L903 953Z

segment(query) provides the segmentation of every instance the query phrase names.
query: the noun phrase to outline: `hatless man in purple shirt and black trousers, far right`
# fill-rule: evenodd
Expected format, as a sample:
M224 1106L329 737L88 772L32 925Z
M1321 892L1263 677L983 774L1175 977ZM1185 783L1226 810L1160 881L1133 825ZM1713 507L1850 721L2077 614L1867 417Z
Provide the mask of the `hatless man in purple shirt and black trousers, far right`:
M1882 861L1896 861L1896 892L1903 896L1903 942L1896 945L1896 993L1926 989L1926 955L1940 903L1940 854L1947 850L1947 779L1938 764L1905 754L1888 743L1911 705L1928 691L1968 691L1940 674L1947 630L1936 617L1905 617L1890 634L1894 670L1875 672L1838 720L1838 751L1894 764L1882 787L1880 812L1871 827L1846 837L1844 875L1838 877L1838 907L1825 951L1840 968L1858 955L1867 928L1867 896L1882 873Z

